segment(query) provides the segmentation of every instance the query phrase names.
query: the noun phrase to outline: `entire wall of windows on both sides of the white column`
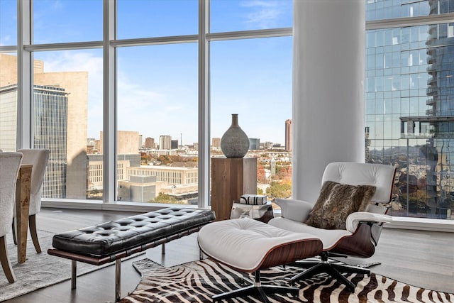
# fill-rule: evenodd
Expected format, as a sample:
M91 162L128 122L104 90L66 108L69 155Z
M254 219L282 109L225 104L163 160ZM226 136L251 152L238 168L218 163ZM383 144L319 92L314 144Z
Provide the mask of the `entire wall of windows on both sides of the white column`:
M392 214L453 219L454 0L365 2L366 160ZM54 150L46 198L207 206L231 114L259 189L289 182L292 1L83 3L0 1L0 148Z

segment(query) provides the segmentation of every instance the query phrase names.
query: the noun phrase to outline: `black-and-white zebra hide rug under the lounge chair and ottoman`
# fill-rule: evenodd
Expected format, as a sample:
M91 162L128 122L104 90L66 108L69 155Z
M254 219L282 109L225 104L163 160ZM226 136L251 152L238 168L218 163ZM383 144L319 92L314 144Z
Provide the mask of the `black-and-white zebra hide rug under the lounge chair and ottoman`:
M151 260L133 263L142 274L140 284L121 303L131 302L211 302L211 296L243 287L243 274L212 260L195 261L172 268L164 268ZM301 268L281 266L262 270L262 284L287 285L289 278ZM246 275L253 279L253 275ZM299 297L291 294L269 295L270 302L454 302L454 294L425 290L402 282L371 274L348 276L355 283L355 293L328 275L317 275L311 280L295 283ZM225 301L224 301L225 302ZM254 297L230 299L228 302L260 302Z

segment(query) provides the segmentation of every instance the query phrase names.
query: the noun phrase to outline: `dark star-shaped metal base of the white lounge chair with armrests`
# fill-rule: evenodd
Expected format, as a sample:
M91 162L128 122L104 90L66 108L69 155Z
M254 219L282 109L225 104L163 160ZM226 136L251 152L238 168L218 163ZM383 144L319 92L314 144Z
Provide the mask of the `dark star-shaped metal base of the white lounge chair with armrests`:
M328 275L331 275L334 279L338 280L338 282L341 282L343 285L347 287L350 292L355 292L355 285L353 282L348 280L344 275L342 275L341 272L347 272L347 273L362 273L367 275L367 277L370 277L370 270L366 268L359 268L353 265L347 265L347 264L338 264L338 263L330 263L328 260L328 253L323 252L320 255L321 260L319 262L305 262L301 261L298 263L294 263L292 265L297 266L297 267L302 267L302 268L308 268L307 270L304 270L304 272L300 272L298 275L295 275L290 279L290 283L293 284L297 280L303 280L307 279L310 277L313 277L314 275L318 275L320 273L327 273Z

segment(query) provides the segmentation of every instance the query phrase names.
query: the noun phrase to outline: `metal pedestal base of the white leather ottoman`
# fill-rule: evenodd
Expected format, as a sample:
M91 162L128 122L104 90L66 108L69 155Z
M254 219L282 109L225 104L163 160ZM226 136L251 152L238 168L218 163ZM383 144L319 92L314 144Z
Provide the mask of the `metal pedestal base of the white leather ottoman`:
M232 299L236 297L254 296L260 297L262 302L269 303L267 294L287 294L292 293L298 295L299 289L297 287L286 287L277 285L262 285L260 282L260 270L255 273L255 282L253 285L242 287L238 290L232 290L231 292L224 292L223 294L216 294L211 297L213 302L221 301L223 299Z

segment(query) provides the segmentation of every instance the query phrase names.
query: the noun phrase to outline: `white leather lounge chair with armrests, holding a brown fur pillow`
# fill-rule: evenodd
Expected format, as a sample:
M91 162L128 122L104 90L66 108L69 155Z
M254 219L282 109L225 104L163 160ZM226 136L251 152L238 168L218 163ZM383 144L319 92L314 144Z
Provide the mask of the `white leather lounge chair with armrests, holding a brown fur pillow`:
M366 164L355 162L333 162L326 166L321 184L326 181L349 185L373 185L376 187L372 197L373 204L369 204L365 211L357 211L348 215L345 222L346 229L323 229L305 224L313 209L314 202L305 202L295 199L275 199L281 207L281 216L271 219L268 224L288 231L309 233L321 239L323 251L320 259L315 262L300 261L296 265L309 268L292 277L292 281L309 278L325 272L338 282L346 285L353 292L355 285L350 282L343 272L359 272L370 275L370 270L350 265L333 263L330 256L354 256L369 258L375 253L382 224L392 221L387 216L387 204L392 197L395 167L380 164ZM296 184L294 184L296 186Z

